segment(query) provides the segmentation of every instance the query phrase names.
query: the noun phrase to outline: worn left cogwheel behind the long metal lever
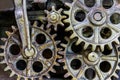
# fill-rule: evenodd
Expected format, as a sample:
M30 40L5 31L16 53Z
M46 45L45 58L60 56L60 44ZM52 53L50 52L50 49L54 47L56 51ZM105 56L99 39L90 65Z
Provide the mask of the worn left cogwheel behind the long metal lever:
M37 27L36 22L31 27L31 43L35 52L31 58L25 56L19 31L15 27L12 27L13 32L6 31L8 39L1 39L5 45L0 46L4 50L0 54L4 60L0 63L7 64L4 71L11 70L10 77L17 75L17 80L43 80L44 76L50 78L49 71L56 72L53 66L60 66L56 62L61 57L57 54L60 49L56 47L59 41L54 40L55 35L49 34L50 30L45 31L41 27Z

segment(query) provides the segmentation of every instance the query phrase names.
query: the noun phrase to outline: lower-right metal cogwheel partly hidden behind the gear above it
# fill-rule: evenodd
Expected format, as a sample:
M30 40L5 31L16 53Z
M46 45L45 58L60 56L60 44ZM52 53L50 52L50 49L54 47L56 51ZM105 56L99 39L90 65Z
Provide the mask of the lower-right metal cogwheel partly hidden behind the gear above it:
M67 39L68 41L69 39ZM114 45L113 49L105 47L103 52L97 48L92 51L92 48L83 50L82 44L75 45L76 39L69 40L68 44L61 44L65 48L59 52L64 55L64 59L59 59L59 62L65 63L64 69L68 72L64 75L65 78L72 76L72 80L114 80L119 78L116 73L120 70L120 45Z

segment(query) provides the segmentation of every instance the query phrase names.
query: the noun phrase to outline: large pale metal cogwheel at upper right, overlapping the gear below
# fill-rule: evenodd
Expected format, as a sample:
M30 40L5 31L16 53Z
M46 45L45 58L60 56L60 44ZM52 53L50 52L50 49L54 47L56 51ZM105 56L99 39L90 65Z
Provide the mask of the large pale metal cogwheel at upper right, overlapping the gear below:
M108 2L107 2L108 1ZM70 23L66 31L72 30L71 39L77 37L76 45L84 42L94 51L97 46L104 51L107 45L119 44L120 7L117 0L73 0L66 3L70 9L64 11L69 16L63 22Z

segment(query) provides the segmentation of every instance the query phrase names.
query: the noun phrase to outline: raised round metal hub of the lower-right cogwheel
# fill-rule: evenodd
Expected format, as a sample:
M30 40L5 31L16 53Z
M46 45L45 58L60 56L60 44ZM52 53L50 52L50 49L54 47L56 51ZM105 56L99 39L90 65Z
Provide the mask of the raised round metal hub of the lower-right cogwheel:
M84 61L88 65L96 65L100 58L96 52L91 52L87 56L84 56Z

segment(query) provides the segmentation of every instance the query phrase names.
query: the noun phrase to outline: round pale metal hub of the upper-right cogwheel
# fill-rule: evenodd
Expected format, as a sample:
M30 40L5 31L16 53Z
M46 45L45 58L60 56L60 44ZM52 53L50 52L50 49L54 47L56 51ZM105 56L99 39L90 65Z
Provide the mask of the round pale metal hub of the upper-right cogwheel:
M94 25L103 25L106 21L106 14L102 10L93 10L90 15L90 22Z

